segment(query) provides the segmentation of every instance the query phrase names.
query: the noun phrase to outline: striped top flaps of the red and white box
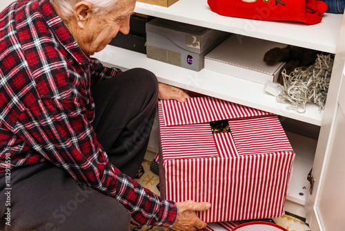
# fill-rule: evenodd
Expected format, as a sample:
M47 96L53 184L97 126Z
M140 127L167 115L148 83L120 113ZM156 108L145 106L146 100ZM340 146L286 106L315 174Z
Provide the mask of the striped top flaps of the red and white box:
M217 98L161 100L159 118L164 160L293 151L277 115ZM217 120L228 120L230 133L212 133Z

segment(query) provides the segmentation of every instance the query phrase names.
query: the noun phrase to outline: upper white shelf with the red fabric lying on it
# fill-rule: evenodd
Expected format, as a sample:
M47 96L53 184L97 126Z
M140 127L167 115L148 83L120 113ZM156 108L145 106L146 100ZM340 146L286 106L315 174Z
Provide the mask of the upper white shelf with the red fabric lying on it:
M211 11L207 0L179 0L168 8L137 2L135 12L329 53L335 53L343 17L326 13L315 25L239 19Z

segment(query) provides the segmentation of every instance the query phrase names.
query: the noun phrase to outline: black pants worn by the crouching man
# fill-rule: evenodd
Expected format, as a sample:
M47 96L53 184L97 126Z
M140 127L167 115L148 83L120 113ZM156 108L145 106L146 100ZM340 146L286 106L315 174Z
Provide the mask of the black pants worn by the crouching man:
M92 86L97 140L113 165L135 176L144 158L157 104L157 79L141 68ZM0 174L0 230L129 230L130 212L110 196L51 163L11 170L10 215ZM10 217L10 225L6 225Z

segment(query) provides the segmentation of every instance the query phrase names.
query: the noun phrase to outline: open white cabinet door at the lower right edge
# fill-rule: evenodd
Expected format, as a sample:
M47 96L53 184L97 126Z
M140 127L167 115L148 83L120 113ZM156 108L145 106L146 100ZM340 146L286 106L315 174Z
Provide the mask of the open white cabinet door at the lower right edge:
M315 197L312 231L345 230L345 77L342 74L324 167Z

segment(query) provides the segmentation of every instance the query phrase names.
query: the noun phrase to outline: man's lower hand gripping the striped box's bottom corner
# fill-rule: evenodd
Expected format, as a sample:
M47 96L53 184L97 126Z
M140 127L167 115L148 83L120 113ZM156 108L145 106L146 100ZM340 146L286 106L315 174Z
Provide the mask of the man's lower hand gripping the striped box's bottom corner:
M195 211L206 211L211 207L208 202L184 201L177 202L179 215L176 222L170 227L176 231L195 231L197 228L206 227L206 223L201 221Z

